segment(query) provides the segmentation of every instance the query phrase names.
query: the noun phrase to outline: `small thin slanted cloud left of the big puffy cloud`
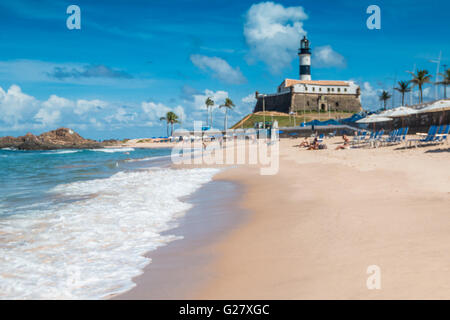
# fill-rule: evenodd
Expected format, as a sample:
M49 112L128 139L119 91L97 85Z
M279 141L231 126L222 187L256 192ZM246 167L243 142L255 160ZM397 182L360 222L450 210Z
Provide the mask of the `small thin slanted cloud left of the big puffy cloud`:
M214 78L220 81L232 84L241 84L247 81L239 68L234 69L222 58L199 54L193 54L190 58L196 67L211 73Z

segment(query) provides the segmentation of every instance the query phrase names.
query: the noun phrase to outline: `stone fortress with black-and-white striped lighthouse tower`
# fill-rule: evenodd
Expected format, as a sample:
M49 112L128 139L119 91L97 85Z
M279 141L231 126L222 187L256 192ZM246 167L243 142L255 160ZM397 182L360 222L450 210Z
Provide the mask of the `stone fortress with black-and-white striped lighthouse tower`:
M360 88L353 81L311 80L311 48L306 36L300 41L298 56L300 80L285 79L273 94L256 92L254 112L361 111Z

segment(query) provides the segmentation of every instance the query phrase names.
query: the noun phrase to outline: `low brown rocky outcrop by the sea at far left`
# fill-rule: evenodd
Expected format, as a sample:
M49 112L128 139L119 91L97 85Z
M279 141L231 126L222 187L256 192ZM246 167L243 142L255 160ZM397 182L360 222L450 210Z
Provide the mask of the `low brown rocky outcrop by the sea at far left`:
M19 150L89 149L103 147L103 143L84 139L78 133L68 128L59 128L42 133L39 136L27 133L17 138L0 138L0 148L15 148Z

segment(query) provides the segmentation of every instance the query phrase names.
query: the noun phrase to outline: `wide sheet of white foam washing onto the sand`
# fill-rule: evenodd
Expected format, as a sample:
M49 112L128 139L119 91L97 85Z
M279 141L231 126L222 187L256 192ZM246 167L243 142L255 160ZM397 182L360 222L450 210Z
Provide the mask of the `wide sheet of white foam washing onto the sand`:
M144 254L190 205L180 198L218 169L119 172L59 185L55 196L86 200L0 220L0 298L98 299L134 286Z

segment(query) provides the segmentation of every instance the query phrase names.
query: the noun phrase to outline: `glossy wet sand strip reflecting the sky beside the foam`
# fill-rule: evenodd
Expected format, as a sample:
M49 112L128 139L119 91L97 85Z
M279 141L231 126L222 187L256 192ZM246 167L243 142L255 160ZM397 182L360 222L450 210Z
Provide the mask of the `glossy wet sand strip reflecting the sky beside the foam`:
M186 299L214 277L207 268L217 258L211 246L248 215L237 205L230 205L239 202L242 186L216 176L183 199L193 207L176 221L176 228L165 232L183 238L148 252L146 256L152 261L133 278L136 286L110 299Z

